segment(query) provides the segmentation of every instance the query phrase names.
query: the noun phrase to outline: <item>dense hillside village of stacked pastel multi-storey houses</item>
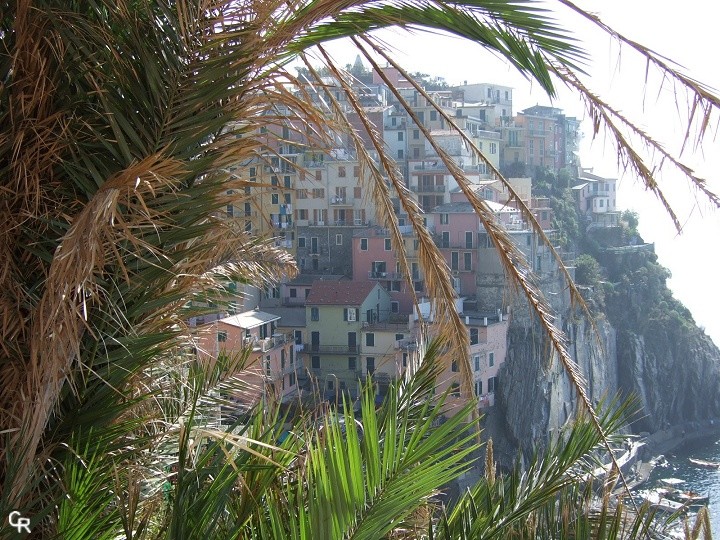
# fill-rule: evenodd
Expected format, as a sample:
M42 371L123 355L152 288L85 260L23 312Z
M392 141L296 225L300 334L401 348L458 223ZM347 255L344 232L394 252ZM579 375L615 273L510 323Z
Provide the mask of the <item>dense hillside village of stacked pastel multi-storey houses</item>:
M462 169L540 282L560 281L556 263L492 169L509 179L551 241L553 211L547 198L533 195L530 175L536 169L571 171L577 178L571 186L577 207L586 223L597 227L619 222L615 180L580 167L577 119L545 106L515 112L512 88L481 83L427 90L430 103L387 68L383 76L411 104L408 113L380 74L357 64L351 72L365 114L395 157L451 271L456 309L470 342L473 390L481 409L492 407L513 317L505 273L480 218L418 123ZM303 95L349 109L341 84L332 77L323 83L322 89L308 84ZM470 151L439 110L464 131L490 166ZM281 118L283 111L276 112ZM356 120L365 150L375 155L367 131ZM247 232L271 237L292 253L300 273L264 291L238 285L226 311L194 318L198 354L217 357L252 347L248 392L236 396L244 406L269 398L291 402L317 390L329 400L340 393L354 399L369 376L382 395L417 351L419 321L432 321L417 240L396 204L403 245L394 245L367 192L368 172L350 139L336 137L333 148L321 151L307 134L280 122L274 135L280 141L276 153L238 164L234 173L248 185L226 213L239 219ZM409 276L398 262L399 249L408 254ZM570 267L572 254L566 255ZM458 371L457 362L448 362L439 390L450 388L451 395L459 397Z

